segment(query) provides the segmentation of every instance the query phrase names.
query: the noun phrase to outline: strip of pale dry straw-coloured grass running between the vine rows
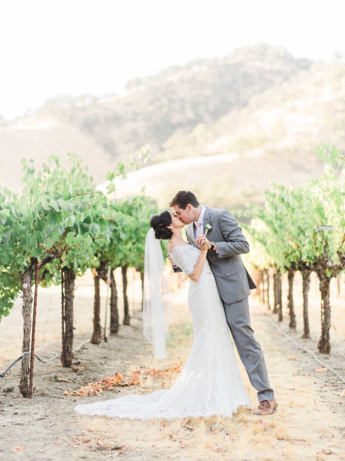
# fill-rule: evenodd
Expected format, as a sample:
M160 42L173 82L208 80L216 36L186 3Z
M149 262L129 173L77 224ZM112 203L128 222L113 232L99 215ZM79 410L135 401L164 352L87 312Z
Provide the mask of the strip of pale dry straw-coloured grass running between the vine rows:
M252 297L251 310L256 309L261 307ZM169 360L185 361L192 332L190 314L182 304L175 319L169 343L173 357ZM140 454L142 457L138 459L297 461L322 459L322 449L331 450L332 459L345 459L341 448L344 439L338 430L343 424L340 414L333 414L327 404L322 404L316 393L317 386L311 385L313 377L293 375L296 361L290 360L282 349L277 349L281 337L265 334L267 325L264 322L260 316L256 318L252 314L254 331L258 332L256 337L264 349L270 384L279 401L279 407L272 415L260 418L253 414L258 405L256 391L249 383L235 348L252 409L240 407L237 414L225 419L213 416L208 419L140 421L79 416L81 434L74 443L91 450L109 450L114 455L128 452L133 459ZM150 366L150 359L147 355L145 358ZM161 367L165 366L163 361ZM146 383L145 391L152 391L159 385L151 384ZM167 387L172 384L173 379ZM114 451L114 446L121 448Z

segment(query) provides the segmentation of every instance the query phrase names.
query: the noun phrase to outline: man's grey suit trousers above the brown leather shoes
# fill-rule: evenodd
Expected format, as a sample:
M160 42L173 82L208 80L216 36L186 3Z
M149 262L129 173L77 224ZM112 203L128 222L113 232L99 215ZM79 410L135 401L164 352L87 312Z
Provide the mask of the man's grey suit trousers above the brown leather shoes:
M223 301L226 320L236 349L253 388L258 391L259 402L273 400L274 391L270 387L264 354L260 344L254 339L250 325L248 296L241 301L227 304Z

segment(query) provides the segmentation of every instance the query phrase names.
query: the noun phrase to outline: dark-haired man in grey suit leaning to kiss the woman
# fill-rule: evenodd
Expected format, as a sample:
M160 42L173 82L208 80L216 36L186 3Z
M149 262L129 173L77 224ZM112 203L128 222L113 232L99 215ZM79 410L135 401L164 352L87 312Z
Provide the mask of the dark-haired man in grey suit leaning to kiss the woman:
M207 236L207 260L223 300L226 320L249 381L258 391L260 403L254 414L270 414L277 408L277 402L262 349L250 325L248 296L249 290L256 286L240 256L249 252L246 237L229 211L200 205L190 191L180 190L169 205L187 225L186 234L191 245L199 248L199 239ZM174 265L173 270L181 272Z

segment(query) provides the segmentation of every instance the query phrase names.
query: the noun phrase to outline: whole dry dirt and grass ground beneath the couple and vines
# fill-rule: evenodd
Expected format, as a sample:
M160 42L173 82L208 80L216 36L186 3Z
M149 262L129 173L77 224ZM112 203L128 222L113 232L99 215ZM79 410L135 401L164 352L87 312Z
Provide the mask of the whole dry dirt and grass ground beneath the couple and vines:
M121 280L116 274L121 298ZM78 280L75 292L75 346L91 336L92 278ZM286 281L284 280L286 289ZM316 280L311 281L311 339L301 339L302 301L300 279L295 286L297 330L291 336L307 349L318 353L320 301ZM35 393L32 400L23 399L18 390L20 364L0 380L0 460L105 460L123 458L139 460L340 460L345 459L345 384L332 372L316 372L321 367L311 355L298 349L268 318L278 325L272 314L251 295L251 322L255 337L264 351L270 384L276 393L278 409L259 418L256 390L237 355L252 408L239 408L233 418L213 417L185 420L111 419L78 415L76 403L94 402L132 392L147 393L159 387L170 387L178 372L166 372L165 378L143 380L141 385L104 391L99 396L65 396L65 390L78 390L115 372L128 374L140 366L168 369L188 356L193 338L191 318L186 306L188 281L174 290L175 313L170 328L168 357L156 361L150 344L144 338L140 312L138 276L130 274L128 295L132 308L131 326L121 326L118 335L108 343L86 344L75 353L75 370L63 369L59 359L43 364L35 360ZM102 287L103 314L105 286ZM286 292L285 299L286 299ZM345 285L338 298L332 284L332 323L330 355L320 360L345 374ZM120 303L120 309L121 309ZM279 324L289 333L286 307ZM10 316L0 323L1 371L20 355L22 337L21 303L17 300ZM103 319L102 319L103 324ZM45 335L44 335L44 331ZM44 358L60 351L60 290L40 290L37 313L36 353ZM44 342L42 342L44 335ZM42 352L41 352L42 351ZM61 381L63 378L66 381ZM221 378L221 377L220 377ZM2 389L14 386L14 391ZM229 390L231 391L231 390Z

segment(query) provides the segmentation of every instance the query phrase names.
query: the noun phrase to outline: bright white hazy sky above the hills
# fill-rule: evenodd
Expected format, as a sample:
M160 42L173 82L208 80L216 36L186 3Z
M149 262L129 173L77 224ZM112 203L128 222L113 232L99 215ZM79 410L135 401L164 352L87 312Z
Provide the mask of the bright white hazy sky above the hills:
M0 115L258 43L296 57L344 53L344 0L1 1Z

